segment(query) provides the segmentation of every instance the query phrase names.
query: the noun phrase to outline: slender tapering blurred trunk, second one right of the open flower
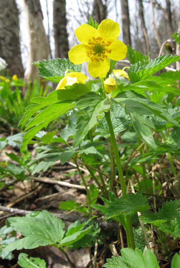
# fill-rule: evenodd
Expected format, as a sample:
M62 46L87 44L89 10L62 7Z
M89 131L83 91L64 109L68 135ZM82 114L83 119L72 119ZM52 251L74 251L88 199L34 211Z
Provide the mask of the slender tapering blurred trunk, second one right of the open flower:
M146 38L145 38L145 35L147 36L147 30L145 27L145 20L144 20L143 1L138 0L138 4L139 4L139 17L140 17L140 22L141 22L142 41L143 41L142 52L144 54L147 54L147 51L149 49L147 48L148 44L146 44Z

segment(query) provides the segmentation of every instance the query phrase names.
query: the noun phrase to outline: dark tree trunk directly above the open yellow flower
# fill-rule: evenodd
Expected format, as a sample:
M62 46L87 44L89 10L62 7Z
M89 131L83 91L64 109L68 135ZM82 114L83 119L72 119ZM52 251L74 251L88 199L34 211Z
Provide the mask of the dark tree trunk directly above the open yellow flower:
M107 18L107 0L105 0L105 4L102 0L94 0L92 17L97 23Z

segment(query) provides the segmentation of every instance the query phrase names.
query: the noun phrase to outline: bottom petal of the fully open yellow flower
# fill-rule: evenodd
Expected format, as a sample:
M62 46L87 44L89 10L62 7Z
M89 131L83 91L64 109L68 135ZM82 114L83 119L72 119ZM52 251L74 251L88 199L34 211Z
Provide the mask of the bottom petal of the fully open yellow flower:
M104 61L97 62L96 60L89 60L88 71L92 77L105 77L110 68L110 63L107 58Z

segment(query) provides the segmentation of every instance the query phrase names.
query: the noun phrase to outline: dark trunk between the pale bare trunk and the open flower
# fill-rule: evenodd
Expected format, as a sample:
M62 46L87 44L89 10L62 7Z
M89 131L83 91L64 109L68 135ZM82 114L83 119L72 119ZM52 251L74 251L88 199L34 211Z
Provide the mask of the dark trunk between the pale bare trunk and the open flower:
M69 43L66 20L66 1L53 1L53 28L55 40L55 57L68 58Z

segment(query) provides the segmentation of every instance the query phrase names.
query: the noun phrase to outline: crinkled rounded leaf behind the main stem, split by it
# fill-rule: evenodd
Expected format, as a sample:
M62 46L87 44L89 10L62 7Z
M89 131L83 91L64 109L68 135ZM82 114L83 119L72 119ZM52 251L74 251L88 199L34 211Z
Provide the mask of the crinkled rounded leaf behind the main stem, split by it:
M125 130L132 123L130 117L125 113L124 108L118 103L113 103L110 108L110 116L114 133ZM104 137L109 137L109 127L106 118L103 117L98 121L97 128Z

